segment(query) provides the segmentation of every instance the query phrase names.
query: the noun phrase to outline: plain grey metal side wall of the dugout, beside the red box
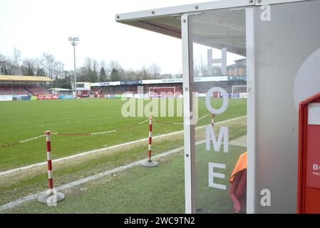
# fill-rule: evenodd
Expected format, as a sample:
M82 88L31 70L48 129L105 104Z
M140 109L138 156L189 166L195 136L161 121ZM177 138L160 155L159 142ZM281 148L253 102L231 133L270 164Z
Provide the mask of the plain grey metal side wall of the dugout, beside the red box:
M254 9L257 213L295 213L298 113L294 80L304 60L320 47L320 1L271 6L271 21ZM306 88L307 89L307 88ZM260 191L271 191L262 207Z

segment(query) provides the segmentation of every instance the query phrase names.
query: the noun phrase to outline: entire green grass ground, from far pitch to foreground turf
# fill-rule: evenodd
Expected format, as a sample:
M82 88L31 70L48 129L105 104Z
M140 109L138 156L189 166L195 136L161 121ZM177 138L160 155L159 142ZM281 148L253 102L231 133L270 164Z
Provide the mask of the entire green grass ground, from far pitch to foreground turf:
M175 103L180 98L175 99ZM159 99L158 99L159 100ZM121 107L126 101L113 99L75 99L75 100L30 100L0 103L1 128L0 145L10 145L38 135L46 130L55 133L103 133L97 135L52 135L51 147L53 160L76 155L88 150L95 150L125 142L148 138L148 117L124 118ZM148 101L145 101L145 105ZM221 106L222 100L212 99L215 108ZM219 122L229 126L229 140L239 138L247 133L246 118L247 100L229 99L228 109L215 116L215 130L219 130ZM176 105L175 105L176 107ZM205 107L205 100L199 99L199 118L196 126L211 123ZM233 118L237 120L229 121ZM175 133L183 130L182 117L155 117L153 135ZM158 120L158 121L157 121ZM140 123L140 124L139 124ZM179 124L170 124L179 123ZM115 130L116 131L113 131ZM196 130L196 141L205 138L204 128ZM183 133L168 135L153 140L153 155L174 150L183 146ZM204 144L197 145L200 156L197 163L202 169L197 172L200 189L199 209L206 211L208 205L221 199L219 208L224 212L232 209L232 204L225 192L216 191L203 186L207 182L207 161L212 160L212 153L205 152ZM222 149L221 149L222 150ZM237 157L244 152L244 147L230 146L230 156L223 158L223 152L215 155L216 160L227 164L227 174L230 175ZM183 150L162 157L158 167L146 169L141 166L131 167L109 175L102 179L91 181L63 192L66 200L59 207L47 207L32 200L21 207L7 212L84 212L99 213L177 213L184 210L184 174ZM91 177L105 170L127 165L130 162L145 159L148 155L148 141L140 141L132 145L116 147L105 152L99 152L86 157L76 157L63 162L53 162L53 182L56 187L70 182ZM220 158L221 157L221 158ZM32 165L36 162L46 162L46 140L44 137L27 142L0 148L0 172ZM0 178L0 205L12 202L26 195L47 189L46 166L30 170L14 172ZM222 183L228 185L227 179ZM172 186L175 186L172 189ZM208 197L210 200L208 201ZM150 204L150 199L154 200ZM172 202L174 202L172 204ZM176 203L179 202L179 203ZM172 207L167 205L172 204ZM156 206L155 206L156 205ZM174 206L174 207L173 207ZM171 209L169 209L171 208ZM215 211L210 211L215 212ZM220 212L217 209L216 212Z

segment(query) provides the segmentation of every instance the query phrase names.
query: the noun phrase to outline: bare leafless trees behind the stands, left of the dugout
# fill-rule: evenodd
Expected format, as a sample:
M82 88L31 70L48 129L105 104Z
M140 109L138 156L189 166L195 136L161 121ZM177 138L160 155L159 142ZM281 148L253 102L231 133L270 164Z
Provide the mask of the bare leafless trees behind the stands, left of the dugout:
M0 74L17 76L48 76L54 80L56 88L71 88L73 71L66 71L64 64L51 53L43 53L39 58L21 58L21 51L13 49L12 56L0 53ZM139 70L124 69L117 61L97 61L86 57L83 66L77 68L77 81L91 83L105 81L135 81L158 78L181 78L180 74L161 74L160 66L153 63L141 66Z

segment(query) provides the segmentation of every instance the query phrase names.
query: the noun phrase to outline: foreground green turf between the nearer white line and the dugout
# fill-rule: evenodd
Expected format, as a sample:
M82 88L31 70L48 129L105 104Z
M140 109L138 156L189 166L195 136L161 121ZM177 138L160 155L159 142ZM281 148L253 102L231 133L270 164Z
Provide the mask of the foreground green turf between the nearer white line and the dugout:
M199 149L204 150L204 145ZM234 160L243 151L229 147L226 176L232 172ZM218 161L223 152L217 153ZM210 156L210 155L207 155ZM207 156L197 159L197 204L199 213L233 213L232 201L225 190L207 187ZM202 177L205 176L205 178ZM26 202L6 213L125 213L175 214L185 213L185 181L182 152L170 155L155 168L136 166L114 177L103 178L64 192L66 199L56 207L48 207L35 200ZM226 180L220 181L229 187Z

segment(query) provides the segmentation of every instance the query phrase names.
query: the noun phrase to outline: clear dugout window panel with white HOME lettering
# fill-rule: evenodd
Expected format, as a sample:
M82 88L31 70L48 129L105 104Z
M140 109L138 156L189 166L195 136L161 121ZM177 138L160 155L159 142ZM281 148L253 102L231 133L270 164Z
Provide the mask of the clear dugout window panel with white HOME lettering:
M189 16L197 213L246 212L245 20L244 9Z

